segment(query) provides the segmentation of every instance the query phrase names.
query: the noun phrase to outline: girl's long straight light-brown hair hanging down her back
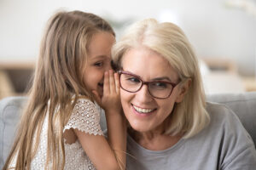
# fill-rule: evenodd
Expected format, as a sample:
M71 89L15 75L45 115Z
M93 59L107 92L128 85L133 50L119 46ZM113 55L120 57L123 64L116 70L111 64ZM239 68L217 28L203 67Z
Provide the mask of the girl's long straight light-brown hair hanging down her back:
M95 14L61 11L49 20L41 42L29 99L21 117L15 144L3 169L8 169L15 159L15 169L30 169L47 114L48 149L45 168L64 168L63 127L73 110L72 96L76 96L75 101L79 94L91 99L83 81L84 65L90 40L99 31L108 31L114 36L108 22ZM56 108L59 108L58 111Z

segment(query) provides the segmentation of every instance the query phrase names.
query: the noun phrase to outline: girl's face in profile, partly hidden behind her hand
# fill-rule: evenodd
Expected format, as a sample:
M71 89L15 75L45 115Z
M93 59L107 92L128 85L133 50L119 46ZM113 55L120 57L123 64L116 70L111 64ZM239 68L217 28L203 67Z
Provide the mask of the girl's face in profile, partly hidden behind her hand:
M84 69L84 84L91 93L96 90L103 94L104 72L111 69L111 48L115 42L113 35L107 31L96 33L89 45L89 58Z

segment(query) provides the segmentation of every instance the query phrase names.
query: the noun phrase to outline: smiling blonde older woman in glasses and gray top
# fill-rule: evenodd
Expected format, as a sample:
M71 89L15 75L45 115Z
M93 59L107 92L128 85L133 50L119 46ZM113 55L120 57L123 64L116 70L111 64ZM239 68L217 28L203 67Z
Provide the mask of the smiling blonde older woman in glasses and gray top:
M131 125L127 169L255 170L256 151L238 118L206 103L197 59L172 23L143 20L113 47Z

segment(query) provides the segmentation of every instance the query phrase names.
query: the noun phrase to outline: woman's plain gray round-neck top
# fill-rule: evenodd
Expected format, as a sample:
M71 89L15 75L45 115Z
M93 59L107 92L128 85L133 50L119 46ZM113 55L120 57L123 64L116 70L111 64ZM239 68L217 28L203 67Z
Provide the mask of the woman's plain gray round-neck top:
M207 103L210 124L166 150L147 150L127 140L127 170L256 170L253 140L226 106ZM256 120L255 120L256 121Z

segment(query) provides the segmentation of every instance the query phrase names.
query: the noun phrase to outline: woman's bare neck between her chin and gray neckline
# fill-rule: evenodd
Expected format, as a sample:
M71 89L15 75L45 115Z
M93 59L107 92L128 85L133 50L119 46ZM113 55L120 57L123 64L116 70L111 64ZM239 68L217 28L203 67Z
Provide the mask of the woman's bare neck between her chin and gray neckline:
M170 136L168 134L161 133L161 131L140 133L130 129L129 134L132 139L148 150L166 150L174 144L177 144L177 142L182 138L182 135Z

